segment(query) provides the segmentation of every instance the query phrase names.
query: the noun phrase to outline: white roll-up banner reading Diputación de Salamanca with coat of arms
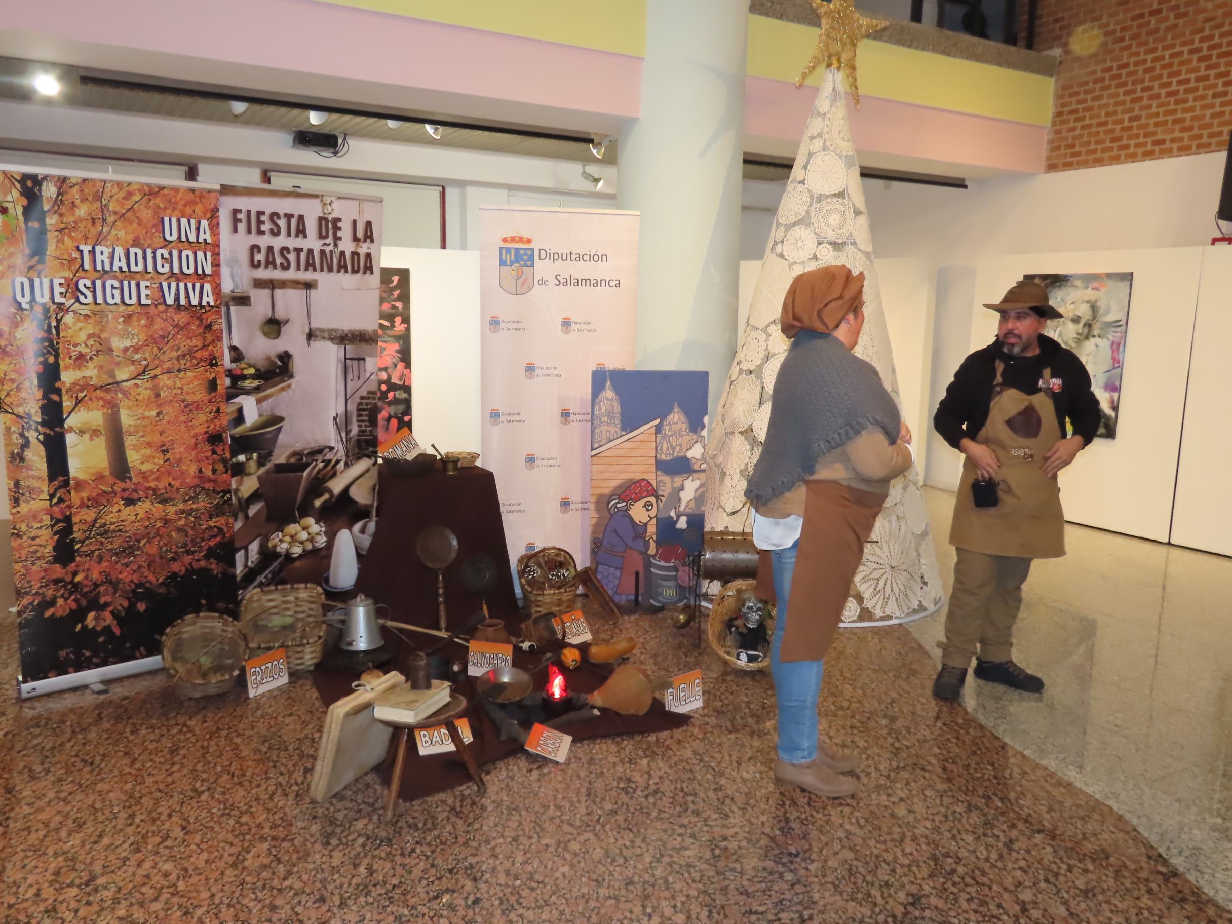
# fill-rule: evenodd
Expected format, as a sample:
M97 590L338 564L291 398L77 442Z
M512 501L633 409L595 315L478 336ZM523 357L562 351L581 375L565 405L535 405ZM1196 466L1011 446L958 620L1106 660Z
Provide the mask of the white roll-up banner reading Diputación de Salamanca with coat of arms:
M590 562L590 372L633 366L639 221L480 209L480 464L496 476L511 565L545 546Z

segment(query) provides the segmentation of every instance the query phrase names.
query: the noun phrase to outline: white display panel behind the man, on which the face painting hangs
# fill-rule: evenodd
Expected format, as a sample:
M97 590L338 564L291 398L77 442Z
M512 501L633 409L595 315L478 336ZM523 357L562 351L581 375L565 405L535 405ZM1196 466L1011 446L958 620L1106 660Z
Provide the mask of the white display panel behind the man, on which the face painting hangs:
M982 303L999 301L1025 275L1133 274L1116 439L1096 439L1061 473L1071 522L1168 541L1201 260L1202 248L1170 248L1019 254L979 265L972 351L997 336L997 314Z

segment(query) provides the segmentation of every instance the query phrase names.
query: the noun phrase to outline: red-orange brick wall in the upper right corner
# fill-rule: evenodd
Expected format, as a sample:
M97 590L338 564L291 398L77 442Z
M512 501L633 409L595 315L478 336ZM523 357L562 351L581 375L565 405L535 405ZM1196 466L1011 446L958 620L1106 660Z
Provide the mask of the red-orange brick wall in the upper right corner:
M1062 49L1048 171L1227 150L1232 0L1040 0L1035 47Z

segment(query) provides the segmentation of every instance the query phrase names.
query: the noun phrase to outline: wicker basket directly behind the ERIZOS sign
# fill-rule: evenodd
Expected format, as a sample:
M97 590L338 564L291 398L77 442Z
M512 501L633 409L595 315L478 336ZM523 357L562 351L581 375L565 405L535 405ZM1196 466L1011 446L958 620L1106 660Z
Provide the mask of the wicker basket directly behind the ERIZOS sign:
M317 584L283 584L249 591L240 622L249 657L287 649L287 669L312 670L325 650L325 594Z

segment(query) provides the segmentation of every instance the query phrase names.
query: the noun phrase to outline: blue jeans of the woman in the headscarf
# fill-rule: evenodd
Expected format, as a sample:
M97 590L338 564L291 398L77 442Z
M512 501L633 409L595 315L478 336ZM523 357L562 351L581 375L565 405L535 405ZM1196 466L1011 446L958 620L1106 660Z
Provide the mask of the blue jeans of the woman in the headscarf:
M791 575L796 570L796 548L771 552L774 561L774 591L779 598L775 614L774 642L770 646L770 671L774 695L779 703L779 759L788 764L807 764L817 756L817 699L822 692L821 660L784 663L780 650L787 628L787 598Z

